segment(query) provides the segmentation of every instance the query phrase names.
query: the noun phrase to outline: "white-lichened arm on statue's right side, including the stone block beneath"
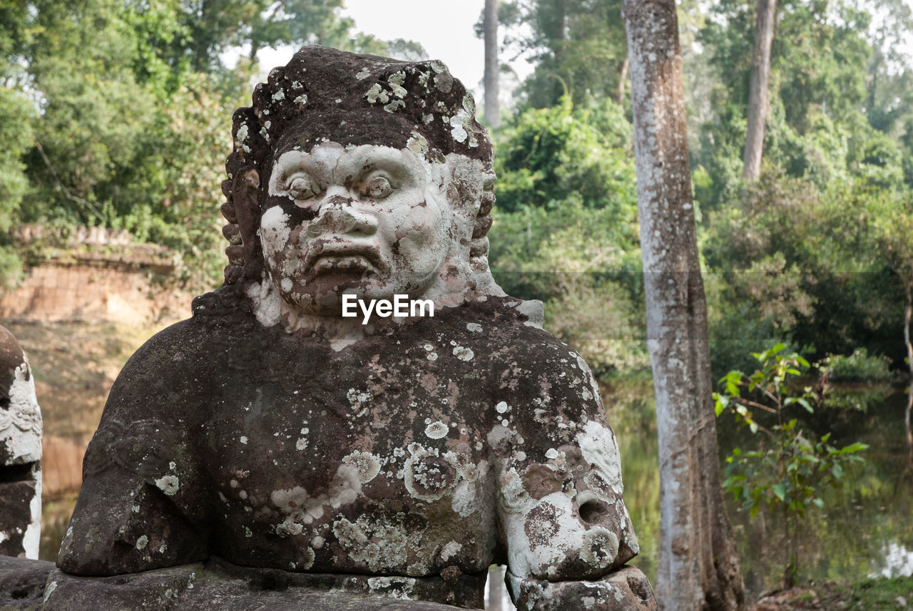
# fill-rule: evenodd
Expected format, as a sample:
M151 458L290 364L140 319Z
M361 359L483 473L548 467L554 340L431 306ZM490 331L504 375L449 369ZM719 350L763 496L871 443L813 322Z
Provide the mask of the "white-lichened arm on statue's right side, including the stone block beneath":
M624 566L639 548L599 388L581 357L557 352L521 369L497 450L509 589L528 611L651 608L644 575Z

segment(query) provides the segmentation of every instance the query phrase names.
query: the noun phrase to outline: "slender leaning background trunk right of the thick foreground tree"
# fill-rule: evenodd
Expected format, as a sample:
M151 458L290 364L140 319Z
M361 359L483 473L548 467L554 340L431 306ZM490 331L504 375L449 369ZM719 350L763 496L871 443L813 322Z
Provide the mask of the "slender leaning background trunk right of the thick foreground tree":
M748 131L745 134L745 167L747 181L761 176L761 152L764 149L764 121L767 119L767 90L771 83L771 44L777 0L758 0L758 29L754 35L751 57L751 82L748 90Z

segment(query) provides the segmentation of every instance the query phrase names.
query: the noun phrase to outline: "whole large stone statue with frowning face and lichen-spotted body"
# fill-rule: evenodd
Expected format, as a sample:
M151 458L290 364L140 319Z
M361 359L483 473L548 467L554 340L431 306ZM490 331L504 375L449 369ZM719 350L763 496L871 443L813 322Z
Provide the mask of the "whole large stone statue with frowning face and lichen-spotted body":
M226 284L111 388L45 608L481 607L492 563L523 609L655 608L593 375L488 271L474 111L325 47L257 86Z

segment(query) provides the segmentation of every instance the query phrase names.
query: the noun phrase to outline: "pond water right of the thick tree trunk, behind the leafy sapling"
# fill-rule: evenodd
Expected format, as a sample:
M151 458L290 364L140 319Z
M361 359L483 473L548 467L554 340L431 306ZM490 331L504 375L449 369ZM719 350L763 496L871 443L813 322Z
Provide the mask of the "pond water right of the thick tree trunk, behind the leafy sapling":
M825 506L810 511L798 537L800 576L820 580L862 581L871 575L910 575L913 549L911 496L913 479L905 474L904 388L852 386L834 388L822 409L804 419L820 437L833 431L831 443L868 444L866 461L845 476L844 484L823 494ZM740 431L726 431L720 445L731 448ZM777 585L782 575L782 515L751 520L730 513L737 528L746 585L752 590ZM894 553L892 553L894 550Z

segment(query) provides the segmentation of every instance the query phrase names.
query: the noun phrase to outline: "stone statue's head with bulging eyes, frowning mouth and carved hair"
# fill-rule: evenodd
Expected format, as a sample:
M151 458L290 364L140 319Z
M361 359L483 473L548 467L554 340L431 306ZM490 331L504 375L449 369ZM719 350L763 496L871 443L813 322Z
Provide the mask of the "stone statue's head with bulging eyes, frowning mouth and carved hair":
M491 142L474 113L439 62L301 48L235 113L226 283L261 322L339 316L343 293L503 295L488 271Z

